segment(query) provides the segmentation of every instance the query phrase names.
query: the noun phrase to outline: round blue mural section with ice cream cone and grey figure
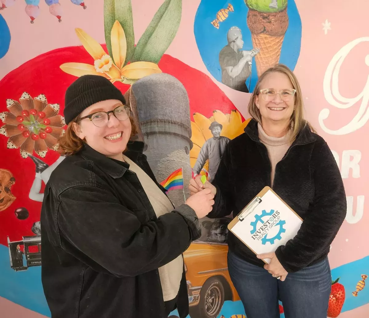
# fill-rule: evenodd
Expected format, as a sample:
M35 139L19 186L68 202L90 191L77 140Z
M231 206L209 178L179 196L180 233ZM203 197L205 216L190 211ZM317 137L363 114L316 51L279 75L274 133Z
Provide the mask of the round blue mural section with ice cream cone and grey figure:
M231 89L252 93L266 69L282 63L294 70L302 35L296 2L201 0L194 35L211 75ZM222 10L228 10L227 14ZM217 14L222 18L213 21Z

